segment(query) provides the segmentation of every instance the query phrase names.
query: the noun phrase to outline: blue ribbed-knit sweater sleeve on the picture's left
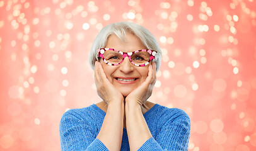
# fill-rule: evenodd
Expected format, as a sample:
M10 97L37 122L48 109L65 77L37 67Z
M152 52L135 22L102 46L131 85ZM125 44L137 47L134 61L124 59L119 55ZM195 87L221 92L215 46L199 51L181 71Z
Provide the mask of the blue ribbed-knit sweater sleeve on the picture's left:
M64 113L59 128L61 150L108 150L92 126L92 121L80 119L70 110Z

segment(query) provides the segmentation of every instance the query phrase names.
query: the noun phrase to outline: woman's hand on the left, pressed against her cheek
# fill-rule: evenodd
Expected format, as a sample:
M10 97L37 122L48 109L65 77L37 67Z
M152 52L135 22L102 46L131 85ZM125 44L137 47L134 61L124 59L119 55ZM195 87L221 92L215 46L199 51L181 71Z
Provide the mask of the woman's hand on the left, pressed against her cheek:
M98 96L108 105L113 101L124 101L124 96L107 79L100 62L95 62L95 85Z

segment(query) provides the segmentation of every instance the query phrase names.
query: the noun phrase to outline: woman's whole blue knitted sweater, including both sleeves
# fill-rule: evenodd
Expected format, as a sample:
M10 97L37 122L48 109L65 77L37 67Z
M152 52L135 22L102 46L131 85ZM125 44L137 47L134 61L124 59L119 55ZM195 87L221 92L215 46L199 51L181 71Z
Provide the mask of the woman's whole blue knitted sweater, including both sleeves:
M108 150L96 138L105 115L96 104L64 113L60 123L61 150ZM153 137L139 151L188 150L190 119L184 111L155 104L143 116ZM120 150L130 150L125 128Z

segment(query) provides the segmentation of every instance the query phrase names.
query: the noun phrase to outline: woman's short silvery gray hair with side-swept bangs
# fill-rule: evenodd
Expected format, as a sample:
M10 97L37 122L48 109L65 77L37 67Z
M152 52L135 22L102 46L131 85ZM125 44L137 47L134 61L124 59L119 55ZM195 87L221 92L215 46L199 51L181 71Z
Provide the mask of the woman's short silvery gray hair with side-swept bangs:
M95 62L98 60L97 50L107 45L108 36L115 34L120 40L124 40L126 31L136 35L147 49L157 52L153 62L156 62L156 71L158 71L161 65L162 51L156 38L143 26L128 21L107 25L98 33L90 50L89 64L91 68L94 70Z

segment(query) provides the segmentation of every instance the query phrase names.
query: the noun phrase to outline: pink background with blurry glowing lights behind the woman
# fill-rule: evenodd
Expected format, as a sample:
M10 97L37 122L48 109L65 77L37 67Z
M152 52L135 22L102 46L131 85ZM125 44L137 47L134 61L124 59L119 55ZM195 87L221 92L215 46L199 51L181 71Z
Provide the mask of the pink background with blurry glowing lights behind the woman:
M61 150L67 109L98 103L88 53L133 21L163 50L149 101L191 119L189 150L256 148L256 2L0 1L0 150Z

